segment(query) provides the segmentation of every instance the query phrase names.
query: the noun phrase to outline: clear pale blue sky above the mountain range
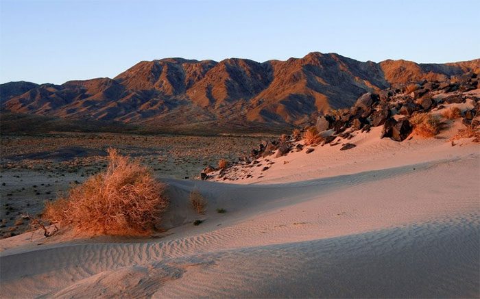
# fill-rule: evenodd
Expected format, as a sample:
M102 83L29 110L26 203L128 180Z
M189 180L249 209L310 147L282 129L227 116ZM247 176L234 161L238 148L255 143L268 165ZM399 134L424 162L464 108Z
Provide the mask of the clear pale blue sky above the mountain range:
M480 57L480 0L0 0L0 83L115 77L163 57Z

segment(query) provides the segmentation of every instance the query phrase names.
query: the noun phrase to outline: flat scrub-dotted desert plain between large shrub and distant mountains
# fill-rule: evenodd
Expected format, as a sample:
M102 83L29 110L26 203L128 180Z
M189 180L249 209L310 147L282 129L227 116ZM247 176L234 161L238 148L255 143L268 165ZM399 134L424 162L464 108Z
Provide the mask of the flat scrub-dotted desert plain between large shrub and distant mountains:
M157 177L193 179L206 165L236 159L271 136L173 136L116 133L2 135L0 237L28 229L22 215L37 216L53 200L106 168L106 149L117 148L148 165Z

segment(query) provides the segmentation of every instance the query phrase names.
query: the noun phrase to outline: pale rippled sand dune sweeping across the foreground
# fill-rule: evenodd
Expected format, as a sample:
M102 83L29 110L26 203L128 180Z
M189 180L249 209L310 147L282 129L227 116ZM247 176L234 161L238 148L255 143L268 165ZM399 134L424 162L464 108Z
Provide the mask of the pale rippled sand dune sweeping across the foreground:
M1 297L478 298L480 146L375 130L243 185L169 180L162 238L3 239ZM188 209L194 188L204 216Z

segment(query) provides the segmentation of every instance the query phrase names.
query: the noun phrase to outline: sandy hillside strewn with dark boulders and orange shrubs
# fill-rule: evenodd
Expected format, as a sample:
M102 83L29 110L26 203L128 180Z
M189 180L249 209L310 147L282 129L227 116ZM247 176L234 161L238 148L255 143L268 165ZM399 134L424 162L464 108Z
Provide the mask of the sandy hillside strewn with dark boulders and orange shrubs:
M374 151L381 151L385 149L385 142L380 145L383 138L405 142L408 148L405 151L409 151L408 146L412 144L418 145L419 140L429 139L458 147L478 144L479 76L471 73L457 77L455 82L422 80L403 88L367 92L350 109L333 110L318 116L316 123L309 127L285 133L277 139L263 140L237 160L224 160L217 168L207 166L200 173L200 179L250 182L265 177L275 163L287 164L314 151L327 156L332 155L335 148L348 151L360 146L361 151L365 151L366 146L376 146ZM374 151L370 148L365 153L372 156ZM358 162L365 164L365 161Z

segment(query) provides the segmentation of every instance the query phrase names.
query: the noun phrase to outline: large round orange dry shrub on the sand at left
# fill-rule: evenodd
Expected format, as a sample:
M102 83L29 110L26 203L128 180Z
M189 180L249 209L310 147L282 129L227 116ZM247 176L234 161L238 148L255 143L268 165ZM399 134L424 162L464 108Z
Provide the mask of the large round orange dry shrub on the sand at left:
M43 217L86 235L149 235L168 207L165 185L138 162L110 148L108 168L68 196L47 203Z

